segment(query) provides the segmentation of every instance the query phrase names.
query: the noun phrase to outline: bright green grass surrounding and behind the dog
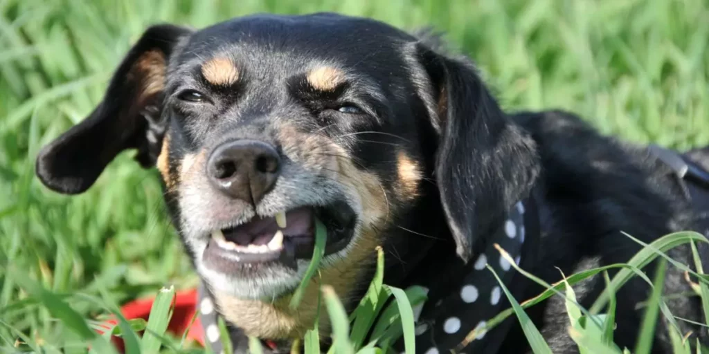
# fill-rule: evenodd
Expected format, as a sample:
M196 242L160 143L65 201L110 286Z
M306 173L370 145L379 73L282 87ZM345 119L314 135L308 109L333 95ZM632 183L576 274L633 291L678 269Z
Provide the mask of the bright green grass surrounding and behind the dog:
M23 348L45 353L72 352L87 341L99 350L101 337L86 333L77 318L95 319L162 287L196 284L167 222L155 171L122 154L89 192L68 198L38 183L33 160L94 108L112 70L150 23L202 27L259 11L339 11L401 28L433 25L476 60L505 108L574 110L602 132L632 142L678 149L709 144L704 0L0 0L0 351L13 351L17 338L27 343ZM612 289L642 268L618 267ZM709 292L704 283L698 290ZM376 329L373 312L387 311L380 308L383 291L381 285L368 293L365 314L347 322L357 350L374 350L361 333ZM611 293L599 300L613 299ZM581 312L591 322L573 327L579 343L597 343L588 326L600 321L594 317L600 309ZM666 314L660 308L657 316ZM125 322L121 331L130 326L145 324ZM670 334L677 350L686 350L686 333ZM172 341L155 335L148 338ZM136 345L145 341L136 338Z

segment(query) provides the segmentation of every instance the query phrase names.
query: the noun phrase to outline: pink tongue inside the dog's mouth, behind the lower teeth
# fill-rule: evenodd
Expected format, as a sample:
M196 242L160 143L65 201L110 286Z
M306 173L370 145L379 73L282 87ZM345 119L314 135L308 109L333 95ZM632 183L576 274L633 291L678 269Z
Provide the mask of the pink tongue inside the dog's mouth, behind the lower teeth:
M252 222L240 225L235 229L225 231L225 237L236 244L267 244L273 235L281 230L284 236L312 236L313 210L310 207L299 207L286 212L286 227L281 229L275 217L255 218Z

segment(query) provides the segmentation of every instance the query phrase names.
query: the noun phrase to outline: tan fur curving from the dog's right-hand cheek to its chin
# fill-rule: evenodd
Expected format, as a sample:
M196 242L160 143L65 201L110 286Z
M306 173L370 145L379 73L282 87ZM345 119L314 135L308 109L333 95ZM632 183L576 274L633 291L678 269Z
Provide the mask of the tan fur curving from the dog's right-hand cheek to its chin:
M362 203L362 231L357 244L345 258L320 270L320 280L313 278L303 301L296 311L289 309L291 297L274 302L245 300L216 292L216 302L226 319L259 338L301 338L315 321L318 304L318 282L333 287L341 299L352 295L362 282L362 270L376 261L376 247L381 244L378 230L386 224L389 205L376 174L362 171L350 154L323 135L298 132L289 125L281 127L279 140L284 152L299 164L323 175L335 178ZM320 333L329 332L326 312L321 312Z

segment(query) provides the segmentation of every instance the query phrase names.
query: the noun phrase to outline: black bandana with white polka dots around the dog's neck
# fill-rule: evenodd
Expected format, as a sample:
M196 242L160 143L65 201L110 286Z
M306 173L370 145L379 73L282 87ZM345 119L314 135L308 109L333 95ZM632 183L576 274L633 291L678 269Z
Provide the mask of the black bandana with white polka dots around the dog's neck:
M533 198L529 198L514 205L494 235L486 237L484 244L477 245L482 251L476 256L476 261L464 264L459 258L450 257L449 264L429 267L430 273L422 274L417 284L428 292L428 300L413 309L416 353L437 354L451 349L459 353L496 353L514 321L512 318L461 346L468 333L485 326L486 319L509 307L502 288L485 265L489 264L515 295L522 290L518 286L520 282L515 281L521 275L513 271L494 245L498 244L507 251L522 268L528 268L535 261L537 250L533 247L539 244L539 236L537 208ZM450 278L452 281L445 282L441 281L442 274L455 276ZM203 286L199 288L199 299L205 341L213 353L223 353L217 326L218 315ZM241 334L240 337L244 336ZM247 341L241 339L233 343L234 353L247 353ZM277 343L267 342L266 345L274 352L281 351L277 349L281 347ZM290 348L284 347L284 353L288 352ZM403 338L396 343L395 349L403 353Z

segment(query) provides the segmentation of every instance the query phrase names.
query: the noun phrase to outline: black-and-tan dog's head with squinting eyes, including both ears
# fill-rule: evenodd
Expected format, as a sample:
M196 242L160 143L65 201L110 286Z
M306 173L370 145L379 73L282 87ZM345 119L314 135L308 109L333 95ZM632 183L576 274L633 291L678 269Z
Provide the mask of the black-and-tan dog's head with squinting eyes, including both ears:
M125 149L157 166L196 270L240 326L286 312L277 304L307 268L316 220L328 235L321 281L347 297L417 205L442 210L468 260L537 173L531 140L470 62L332 14L149 28L37 173L82 193ZM291 335L312 320L304 312L251 333Z

